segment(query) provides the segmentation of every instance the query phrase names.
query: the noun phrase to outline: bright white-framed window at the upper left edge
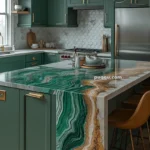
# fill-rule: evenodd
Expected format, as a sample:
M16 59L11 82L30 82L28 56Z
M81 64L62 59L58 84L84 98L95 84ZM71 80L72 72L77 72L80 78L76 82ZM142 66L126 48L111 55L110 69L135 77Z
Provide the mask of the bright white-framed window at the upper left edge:
M3 44L9 45L10 41L8 37L10 34L9 28L9 20L10 20L10 0L0 0L0 32L3 36ZM2 44L2 40L0 38L0 45Z

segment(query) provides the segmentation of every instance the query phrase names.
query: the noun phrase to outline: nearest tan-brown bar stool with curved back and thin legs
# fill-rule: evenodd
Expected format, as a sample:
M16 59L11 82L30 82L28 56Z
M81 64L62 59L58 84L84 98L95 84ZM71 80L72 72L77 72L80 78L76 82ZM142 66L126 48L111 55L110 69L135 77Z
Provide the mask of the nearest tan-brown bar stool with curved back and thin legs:
M143 149L145 150L142 128L150 116L150 91L140 99L136 109L116 109L108 116L108 124L114 128L129 130L132 150L134 150L132 130L140 128ZM113 147L111 143L110 149Z

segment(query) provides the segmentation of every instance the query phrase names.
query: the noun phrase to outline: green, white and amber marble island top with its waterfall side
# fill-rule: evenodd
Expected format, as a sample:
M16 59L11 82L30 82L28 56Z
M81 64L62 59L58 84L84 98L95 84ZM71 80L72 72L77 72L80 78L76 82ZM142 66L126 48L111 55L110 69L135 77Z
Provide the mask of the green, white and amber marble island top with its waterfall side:
M1 73L0 85L55 99L49 141L53 149L108 150L108 101L149 78L150 62L104 61L107 67L97 70L74 69L63 61Z

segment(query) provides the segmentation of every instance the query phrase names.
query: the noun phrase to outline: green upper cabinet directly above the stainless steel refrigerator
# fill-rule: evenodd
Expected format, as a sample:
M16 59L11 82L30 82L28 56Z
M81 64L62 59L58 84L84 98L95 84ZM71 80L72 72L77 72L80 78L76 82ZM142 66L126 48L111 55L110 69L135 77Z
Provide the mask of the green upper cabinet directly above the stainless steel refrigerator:
M116 8L149 7L149 0L116 0Z

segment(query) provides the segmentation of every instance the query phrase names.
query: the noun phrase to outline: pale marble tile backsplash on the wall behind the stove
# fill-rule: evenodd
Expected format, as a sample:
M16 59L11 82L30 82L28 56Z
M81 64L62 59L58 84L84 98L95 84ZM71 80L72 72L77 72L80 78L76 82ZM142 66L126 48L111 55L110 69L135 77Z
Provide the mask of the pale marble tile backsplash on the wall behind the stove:
M16 3L15 1L13 3ZM13 16L14 43L17 49L27 48L26 34L29 28L18 28L18 17ZM77 28L33 28L37 40L55 42L57 48L102 48L102 36L110 37L111 30L104 28L103 10L79 10ZM110 39L110 38L109 38Z

